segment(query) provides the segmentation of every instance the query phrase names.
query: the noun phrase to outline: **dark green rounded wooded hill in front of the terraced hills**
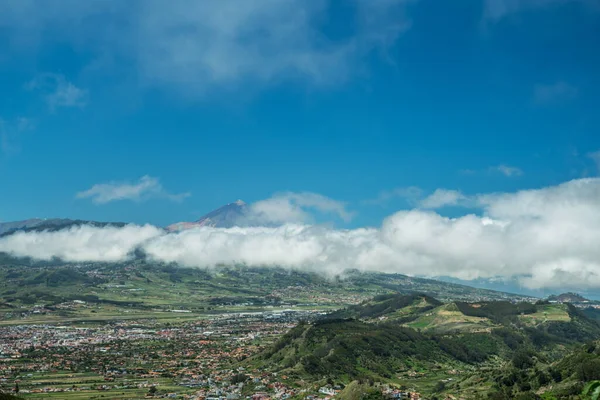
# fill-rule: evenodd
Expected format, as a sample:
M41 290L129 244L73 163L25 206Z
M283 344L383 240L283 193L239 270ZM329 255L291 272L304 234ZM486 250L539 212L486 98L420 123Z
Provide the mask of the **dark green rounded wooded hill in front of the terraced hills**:
M302 324L284 335L256 361L313 378L393 379L397 371L431 359L448 359L431 338L393 324L325 319Z

